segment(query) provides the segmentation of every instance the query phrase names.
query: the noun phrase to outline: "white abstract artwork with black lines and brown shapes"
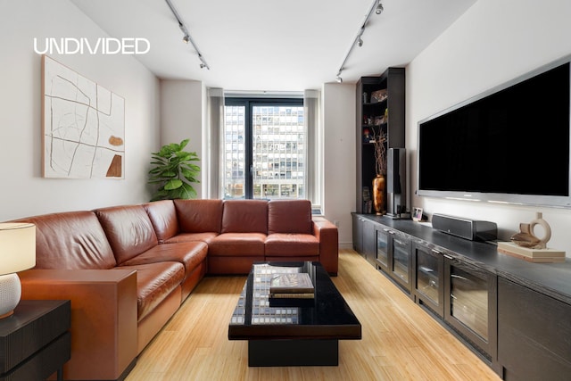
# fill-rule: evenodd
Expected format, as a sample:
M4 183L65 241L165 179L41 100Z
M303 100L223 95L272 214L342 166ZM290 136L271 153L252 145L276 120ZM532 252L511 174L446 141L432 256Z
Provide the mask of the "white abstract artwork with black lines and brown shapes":
M45 178L125 178L125 100L42 57Z

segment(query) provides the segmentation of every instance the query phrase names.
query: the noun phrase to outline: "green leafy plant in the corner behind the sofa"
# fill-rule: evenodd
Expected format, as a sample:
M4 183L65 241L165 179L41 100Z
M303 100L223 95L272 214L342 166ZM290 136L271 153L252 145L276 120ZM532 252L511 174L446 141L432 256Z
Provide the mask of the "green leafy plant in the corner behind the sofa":
M148 184L159 185L151 201L194 198L192 183L200 183L196 175L200 167L193 162L200 159L194 152L183 151L189 139L180 144L163 145L161 151L152 153Z

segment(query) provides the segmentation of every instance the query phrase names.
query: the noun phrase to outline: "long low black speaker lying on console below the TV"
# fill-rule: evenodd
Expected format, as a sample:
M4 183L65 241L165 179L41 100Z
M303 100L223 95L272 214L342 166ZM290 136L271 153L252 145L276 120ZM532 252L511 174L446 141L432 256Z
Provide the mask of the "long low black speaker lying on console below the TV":
M495 222L464 219L434 213L432 227L470 241L492 241L498 237L498 226Z

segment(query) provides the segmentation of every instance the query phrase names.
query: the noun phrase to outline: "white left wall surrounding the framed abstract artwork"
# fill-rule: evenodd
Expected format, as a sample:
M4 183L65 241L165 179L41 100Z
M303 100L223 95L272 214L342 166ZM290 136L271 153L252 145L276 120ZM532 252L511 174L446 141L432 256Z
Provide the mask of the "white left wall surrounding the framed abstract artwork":
M145 202L150 153L159 141L159 81L128 55L52 58L125 98L125 179L41 177L41 56L33 39L108 37L67 0L0 3L0 220Z

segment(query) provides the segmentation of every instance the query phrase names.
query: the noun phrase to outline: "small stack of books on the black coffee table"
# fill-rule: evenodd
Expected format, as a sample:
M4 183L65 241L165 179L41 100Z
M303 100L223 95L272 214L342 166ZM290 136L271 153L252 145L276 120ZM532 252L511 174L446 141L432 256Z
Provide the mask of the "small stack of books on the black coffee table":
M269 281L269 297L272 299L313 299L315 287L308 273L273 274Z

